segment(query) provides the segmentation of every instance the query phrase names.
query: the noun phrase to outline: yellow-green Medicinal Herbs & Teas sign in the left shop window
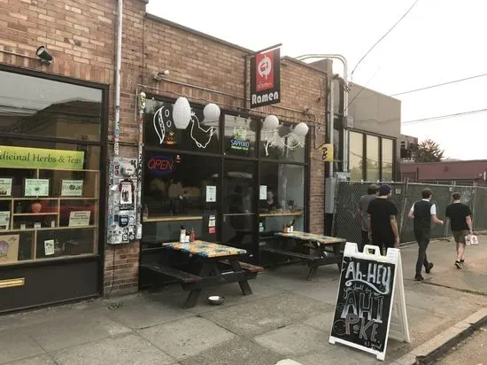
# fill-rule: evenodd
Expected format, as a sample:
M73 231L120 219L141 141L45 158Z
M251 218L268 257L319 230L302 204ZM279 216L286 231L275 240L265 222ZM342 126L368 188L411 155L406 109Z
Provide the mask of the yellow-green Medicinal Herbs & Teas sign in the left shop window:
M0 145L0 167L81 170L83 161L84 151Z

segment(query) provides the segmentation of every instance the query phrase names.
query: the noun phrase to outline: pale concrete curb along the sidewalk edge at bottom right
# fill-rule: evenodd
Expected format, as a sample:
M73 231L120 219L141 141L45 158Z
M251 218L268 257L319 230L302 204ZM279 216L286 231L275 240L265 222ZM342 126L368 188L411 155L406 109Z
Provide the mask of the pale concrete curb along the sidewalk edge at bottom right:
M468 338L475 330L487 323L487 307L476 311L463 321L457 322L439 335L392 362L393 365L423 365L436 361L453 346Z

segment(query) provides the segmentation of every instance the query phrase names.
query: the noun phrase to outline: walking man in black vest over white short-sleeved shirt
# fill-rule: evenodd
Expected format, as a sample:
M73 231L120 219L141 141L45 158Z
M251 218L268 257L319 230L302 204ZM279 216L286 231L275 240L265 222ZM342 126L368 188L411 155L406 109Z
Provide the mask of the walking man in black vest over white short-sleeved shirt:
M443 224L437 218L437 206L431 203L433 191L424 189L421 192L422 199L414 203L409 211L409 219L414 220L414 237L418 242L418 260L416 261L416 276L414 280L421 282L424 278L421 276L421 268L424 266L426 274L431 272L433 262L428 262L426 250L429 245L429 237L431 236L431 221L437 224Z

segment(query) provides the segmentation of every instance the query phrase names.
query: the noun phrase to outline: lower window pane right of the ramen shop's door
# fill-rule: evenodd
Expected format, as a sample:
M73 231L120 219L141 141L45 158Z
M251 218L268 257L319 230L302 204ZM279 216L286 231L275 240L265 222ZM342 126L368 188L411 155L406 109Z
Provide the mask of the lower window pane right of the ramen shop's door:
M294 229L305 226L305 167L260 163L259 232L272 235L286 223Z

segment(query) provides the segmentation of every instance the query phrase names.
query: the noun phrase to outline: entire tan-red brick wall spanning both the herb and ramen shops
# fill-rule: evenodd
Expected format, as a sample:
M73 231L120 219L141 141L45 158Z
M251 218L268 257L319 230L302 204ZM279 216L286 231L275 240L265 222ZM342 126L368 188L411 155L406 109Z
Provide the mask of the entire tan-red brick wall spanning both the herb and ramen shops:
M136 155L135 96L139 84L166 97L184 95L222 109L244 107L244 56L242 47L215 40L191 29L147 15L146 0L124 1L121 70L120 155ZM112 140L113 75L116 0L0 0L0 63L110 85L109 140ZM54 57L50 66L39 63L35 50L46 44ZM11 53L17 53L13 55ZM170 80L216 89L208 92L171 82L155 82L153 75L170 70ZM282 103L259 108L255 115L276 114L280 120L305 121L312 150L323 142L324 80L326 75L309 66L282 60ZM304 106L309 113L302 113ZM311 230L323 226L324 180L321 156L312 152ZM104 243L100 243L103 245ZM139 245L106 246L104 290L136 291Z

